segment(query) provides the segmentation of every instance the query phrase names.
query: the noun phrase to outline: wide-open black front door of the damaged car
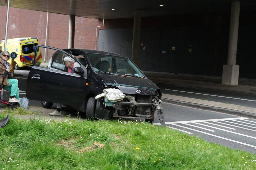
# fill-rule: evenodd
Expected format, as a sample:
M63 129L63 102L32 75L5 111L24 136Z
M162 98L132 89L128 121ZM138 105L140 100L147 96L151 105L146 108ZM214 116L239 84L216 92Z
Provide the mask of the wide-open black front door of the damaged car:
M61 103L70 106L82 106L84 89L87 80L86 68L69 53L48 46L37 45L36 51L45 52L47 63L30 69L27 80L27 98L30 100ZM40 55L35 53L35 56ZM44 55L42 55L44 56ZM64 58L75 60L83 69L79 75L68 73Z

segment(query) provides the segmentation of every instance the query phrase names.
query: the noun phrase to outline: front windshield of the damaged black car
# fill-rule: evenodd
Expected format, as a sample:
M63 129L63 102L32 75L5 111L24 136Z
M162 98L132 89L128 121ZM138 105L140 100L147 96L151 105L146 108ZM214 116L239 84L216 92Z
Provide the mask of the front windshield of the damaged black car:
M109 72L119 75L135 75L145 77L133 62L124 57L87 53L95 72Z

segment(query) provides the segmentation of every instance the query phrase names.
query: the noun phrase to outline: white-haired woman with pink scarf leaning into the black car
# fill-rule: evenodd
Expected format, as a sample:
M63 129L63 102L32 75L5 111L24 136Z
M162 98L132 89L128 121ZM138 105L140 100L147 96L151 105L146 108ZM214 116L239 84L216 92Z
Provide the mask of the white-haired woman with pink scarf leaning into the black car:
M74 73L74 68L80 67L80 64L77 63L71 57L65 57L63 60L65 61L66 67L68 67L68 73ZM54 112L52 112L52 113L49 113L49 115L52 115L52 116L63 115L61 113L61 104L57 103L56 110Z

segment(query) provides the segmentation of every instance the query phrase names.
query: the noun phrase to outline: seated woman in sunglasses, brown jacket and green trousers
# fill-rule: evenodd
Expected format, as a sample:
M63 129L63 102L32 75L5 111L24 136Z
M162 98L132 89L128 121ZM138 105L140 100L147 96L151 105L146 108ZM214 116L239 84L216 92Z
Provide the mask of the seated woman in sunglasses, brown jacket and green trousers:
M5 70L9 72L12 69L12 65L7 62L10 58L10 53L8 51L3 51L0 53L0 73L3 74ZM9 73L8 73L9 74ZM12 77L13 74L11 73ZM0 76L0 84L3 81L3 75ZM8 79L8 76L4 79L4 89L10 91L9 102L20 102L19 100L19 88L17 79Z

